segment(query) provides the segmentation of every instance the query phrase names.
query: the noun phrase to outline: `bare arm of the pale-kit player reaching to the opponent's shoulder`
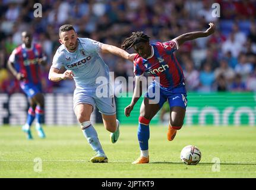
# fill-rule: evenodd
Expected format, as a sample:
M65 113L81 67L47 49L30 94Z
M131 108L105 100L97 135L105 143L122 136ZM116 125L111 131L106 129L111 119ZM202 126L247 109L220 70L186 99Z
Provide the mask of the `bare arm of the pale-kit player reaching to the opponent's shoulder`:
M102 44L101 52L102 53L112 53L113 55L120 56L121 58L128 59L129 61L133 61L133 58L136 55L135 53L129 54L128 52L126 52L125 50L123 50L119 47L108 45L105 43Z

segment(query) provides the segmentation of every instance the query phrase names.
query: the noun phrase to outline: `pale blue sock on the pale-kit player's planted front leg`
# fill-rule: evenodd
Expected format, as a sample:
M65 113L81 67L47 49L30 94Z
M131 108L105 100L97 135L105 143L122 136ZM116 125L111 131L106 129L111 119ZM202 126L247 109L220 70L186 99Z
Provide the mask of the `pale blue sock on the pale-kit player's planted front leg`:
M100 152L105 154L102 149L102 145L100 144L97 132L94 129L93 125L91 125L90 122L83 122L81 124L81 128L82 128L84 137L86 137L91 148L93 148L93 150L96 151L97 153Z

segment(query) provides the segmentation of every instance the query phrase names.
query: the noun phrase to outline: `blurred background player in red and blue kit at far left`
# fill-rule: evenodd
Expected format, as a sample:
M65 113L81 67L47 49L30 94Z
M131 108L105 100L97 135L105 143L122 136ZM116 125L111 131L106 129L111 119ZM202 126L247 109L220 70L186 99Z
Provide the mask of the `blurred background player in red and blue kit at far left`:
M16 47L8 60L8 69L20 81L20 87L29 99L29 111L27 122L23 126L28 139L33 139L30 126L36 118L37 134L45 138L42 128L45 100L42 94L40 77L40 65L46 65L46 56L43 56L42 47L32 43L32 35L29 31L21 33L23 44Z

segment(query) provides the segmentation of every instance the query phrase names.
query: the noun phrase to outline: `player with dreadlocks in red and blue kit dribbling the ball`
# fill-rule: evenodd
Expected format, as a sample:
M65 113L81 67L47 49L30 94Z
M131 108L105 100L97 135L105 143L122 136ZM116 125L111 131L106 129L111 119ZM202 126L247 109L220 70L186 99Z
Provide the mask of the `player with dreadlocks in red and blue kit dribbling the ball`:
M136 77L134 94L130 105L125 107L125 115L128 117L141 96L141 77L147 72L154 80L148 87L141 104L140 117L138 119L138 141L140 144L141 155L135 160L134 164L148 163L148 139L150 137L150 120L161 109L163 103L168 100L170 106L170 122L167 131L167 140L172 141L176 131L181 129L187 107L187 91L185 88L184 74L175 58L173 52L179 49L184 42L194 40L198 37L207 37L214 33L214 24L209 23L206 31L194 31L185 33L169 42L156 42L150 44L150 37L142 31L132 33L130 37L124 40L122 48L129 49L134 47L138 53L134 57L134 74ZM151 96L151 90L160 89L159 94ZM158 99L158 101L157 101ZM153 101L153 103L151 102Z

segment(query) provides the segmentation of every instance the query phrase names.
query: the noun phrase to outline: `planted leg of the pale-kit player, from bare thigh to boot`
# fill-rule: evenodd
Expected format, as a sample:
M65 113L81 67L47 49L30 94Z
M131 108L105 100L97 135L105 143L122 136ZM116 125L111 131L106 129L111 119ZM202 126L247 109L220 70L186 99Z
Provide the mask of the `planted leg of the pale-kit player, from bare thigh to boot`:
M77 116L77 120L80 122L84 137L86 137L91 148L96 153L96 155L92 157L90 161L93 163L108 162L108 157L106 157L105 152L103 151L97 132L90 122L90 116L93 112L93 105L89 103L79 103L78 105L75 105L74 111L75 115Z

